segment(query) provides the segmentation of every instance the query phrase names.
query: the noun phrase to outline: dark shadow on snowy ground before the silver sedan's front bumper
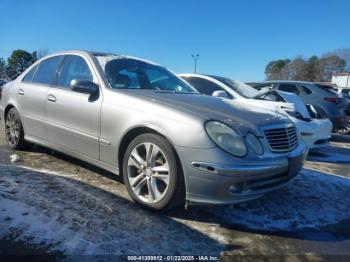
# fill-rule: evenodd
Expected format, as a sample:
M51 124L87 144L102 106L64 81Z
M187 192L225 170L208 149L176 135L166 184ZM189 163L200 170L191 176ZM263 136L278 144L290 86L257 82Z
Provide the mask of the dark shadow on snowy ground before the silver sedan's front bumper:
M349 192L350 179L304 169L288 186L260 199L168 215L248 233L342 241L350 239Z

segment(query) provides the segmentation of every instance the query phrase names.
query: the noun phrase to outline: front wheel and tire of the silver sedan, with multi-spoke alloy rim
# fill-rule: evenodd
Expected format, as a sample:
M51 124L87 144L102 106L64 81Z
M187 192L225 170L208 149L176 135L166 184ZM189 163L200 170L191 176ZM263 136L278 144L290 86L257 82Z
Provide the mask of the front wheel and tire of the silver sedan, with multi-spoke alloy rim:
M123 179L131 198L144 207L164 211L184 204L181 165L160 135L142 134L131 141L123 157Z

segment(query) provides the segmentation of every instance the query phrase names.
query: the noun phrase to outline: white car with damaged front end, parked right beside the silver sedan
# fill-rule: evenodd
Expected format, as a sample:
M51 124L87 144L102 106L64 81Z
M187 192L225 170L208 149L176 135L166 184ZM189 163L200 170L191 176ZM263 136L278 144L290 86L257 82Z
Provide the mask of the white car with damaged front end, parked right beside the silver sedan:
M278 110L293 121L310 149L328 144L332 123L328 119L312 118L303 101L294 94L271 90L258 92L243 82L220 76L201 74L179 76L200 93L215 96L219 92L224 92L223 97L243 101L252 107Z

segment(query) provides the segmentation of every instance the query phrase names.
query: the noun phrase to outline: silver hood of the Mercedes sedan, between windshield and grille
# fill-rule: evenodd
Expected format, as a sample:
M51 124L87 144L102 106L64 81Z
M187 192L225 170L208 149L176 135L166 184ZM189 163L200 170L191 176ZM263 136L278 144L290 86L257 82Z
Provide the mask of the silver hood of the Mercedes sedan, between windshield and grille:
M191 113L205 120L217 120L234 128L255 129L276 123L290 122L280 113L244 102L218 97L152 90L127 90L129 95Z

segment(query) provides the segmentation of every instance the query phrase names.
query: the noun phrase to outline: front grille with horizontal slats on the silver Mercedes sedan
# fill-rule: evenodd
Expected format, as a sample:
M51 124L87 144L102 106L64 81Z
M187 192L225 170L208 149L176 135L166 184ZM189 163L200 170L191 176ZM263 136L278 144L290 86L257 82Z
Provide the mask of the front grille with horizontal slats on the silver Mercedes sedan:
M264 133L272 152L288 152L298 145L298 136L293 125L266 129Z

